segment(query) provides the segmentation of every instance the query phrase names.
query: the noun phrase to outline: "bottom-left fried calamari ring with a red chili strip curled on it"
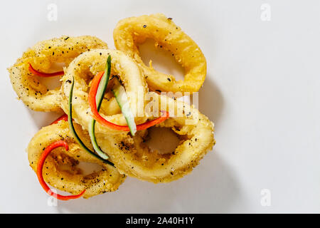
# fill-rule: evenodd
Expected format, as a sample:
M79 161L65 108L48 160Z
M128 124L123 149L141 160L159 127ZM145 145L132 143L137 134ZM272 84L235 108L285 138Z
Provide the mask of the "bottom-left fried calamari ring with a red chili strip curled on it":
M82 140L89 145L90 138L87 133L82 131L80 125L75 126ZM72 137L66 121L46 126L33 136L27 152L28 160L35 172L37 172L38 160L44 148L58 140L68 142L69 150L66 151L60 147L48 155L43 166L43 177L49 185L73 195L85 189L83 197L88 198L105 192L113 192L124 182L125 176L120 175L115 167L107 165L80 148ZM82 175L82 170L76 167L79 162L96 163L102 166L102 170Z

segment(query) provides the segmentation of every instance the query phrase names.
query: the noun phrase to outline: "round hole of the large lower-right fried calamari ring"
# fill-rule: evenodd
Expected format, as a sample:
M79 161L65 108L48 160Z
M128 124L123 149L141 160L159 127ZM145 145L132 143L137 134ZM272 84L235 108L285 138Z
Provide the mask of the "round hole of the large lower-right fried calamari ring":
M142 139L143 143L149 147L150 152L172 155L176 147L186 140L184 136L176 134L171 128L151 127Z

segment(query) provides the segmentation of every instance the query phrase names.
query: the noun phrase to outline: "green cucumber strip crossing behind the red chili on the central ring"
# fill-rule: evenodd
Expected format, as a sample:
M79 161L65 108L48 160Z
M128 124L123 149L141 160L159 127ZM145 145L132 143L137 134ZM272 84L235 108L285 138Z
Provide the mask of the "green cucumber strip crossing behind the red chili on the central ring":
M105 66L105 73L103 74L99 87L97 89L97 95L95 95L95 100L97 103L97 111L99 112L102 104L103 97L105 96L105 90L107 89L107 85L110 78L110 72L111 72L111 56L108 56L107 58L107 64ZM103 152L99 145L97 144L97 138L95 137L95 119L92 118L89 124L89 135L90 140L93 146L93 149L95 149L95 152L97 152L100 157L104 159L108 159L108 156Z

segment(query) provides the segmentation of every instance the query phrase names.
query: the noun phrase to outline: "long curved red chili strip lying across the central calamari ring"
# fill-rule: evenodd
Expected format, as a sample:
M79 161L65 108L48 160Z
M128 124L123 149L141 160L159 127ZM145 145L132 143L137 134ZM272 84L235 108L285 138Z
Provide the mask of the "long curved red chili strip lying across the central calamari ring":
M112 128L114 130L129 131L128 126L122 126L122 125L117 125L117 124L111 123L108 120L105 120L105 118L103 118L99 114L99 112L97 111L97 102L95 100L95 96L97 95L97 89L99 87L99 83L101 81L103 73L104 73L103 71L100 73L97 73L95 78L93 78L92 83L91 83L91 88L89 91L88 100L89 100L90 109L93 114L93 118L95 120L97 120L98 123L101 123L102 125L105 125L105 126ZM150 127L152 127L156 124L159 124L169 118L169 113L167 111L161 110L161 114L162 115L159 118L156 118L156 119L150 120L146 123L142 123L142 124L137 125L137 130L145 130L146 128L150 128Z

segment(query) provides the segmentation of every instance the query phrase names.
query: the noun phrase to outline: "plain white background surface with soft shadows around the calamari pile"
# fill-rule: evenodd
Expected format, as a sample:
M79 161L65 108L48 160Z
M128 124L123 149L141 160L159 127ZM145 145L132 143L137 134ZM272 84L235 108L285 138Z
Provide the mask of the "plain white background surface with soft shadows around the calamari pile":
M50 3L57 21L47 19ZM271 21L260 19L265 3ZM316 0L3 2L0 212L320 212L319 10ZM16 100L6 68L37 41L61 35L97 36L113 48L119 19L157 12L206 56L200 110L215 122L216 146L176 182L128 177L117 192L48 207L25 150L56 115ZM263 189L270 207L260 204Z

